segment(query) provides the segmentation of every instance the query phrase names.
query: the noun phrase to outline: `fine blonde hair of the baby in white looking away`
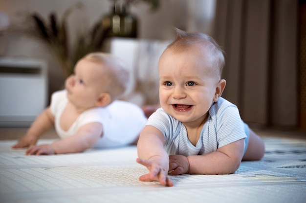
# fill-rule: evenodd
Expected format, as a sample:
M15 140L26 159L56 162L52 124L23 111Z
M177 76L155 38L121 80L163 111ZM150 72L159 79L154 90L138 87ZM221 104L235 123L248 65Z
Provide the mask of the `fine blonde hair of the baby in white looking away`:
M127 90L130 82L129 71L120 58L103 52L93 52L85 55L82 59L101 64L101 68L105 71L101 80L111 96L111 102Z

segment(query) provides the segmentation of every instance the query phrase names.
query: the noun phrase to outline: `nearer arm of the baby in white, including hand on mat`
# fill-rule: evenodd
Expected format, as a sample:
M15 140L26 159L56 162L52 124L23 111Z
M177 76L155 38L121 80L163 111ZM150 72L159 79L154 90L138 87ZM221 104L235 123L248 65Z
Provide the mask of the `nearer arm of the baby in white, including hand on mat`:
M63 140L52 144L32 146L27 149L27 155L65 154L82 152L92 147L102 135L102 124L89 123L81 127L78 132Z

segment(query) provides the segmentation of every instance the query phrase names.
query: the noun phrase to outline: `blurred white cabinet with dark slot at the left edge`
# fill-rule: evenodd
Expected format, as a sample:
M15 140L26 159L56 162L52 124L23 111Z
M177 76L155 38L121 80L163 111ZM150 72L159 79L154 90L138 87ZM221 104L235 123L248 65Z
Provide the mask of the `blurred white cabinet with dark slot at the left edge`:
M47 103L43 60L0 58L0 127L28 127Z

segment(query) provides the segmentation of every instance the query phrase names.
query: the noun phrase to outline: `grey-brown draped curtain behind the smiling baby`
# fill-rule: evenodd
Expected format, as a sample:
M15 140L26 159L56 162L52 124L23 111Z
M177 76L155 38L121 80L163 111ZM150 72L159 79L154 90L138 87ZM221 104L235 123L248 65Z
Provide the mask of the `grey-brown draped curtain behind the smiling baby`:
M298 127L298 0L217 0L223 97L250 125Z

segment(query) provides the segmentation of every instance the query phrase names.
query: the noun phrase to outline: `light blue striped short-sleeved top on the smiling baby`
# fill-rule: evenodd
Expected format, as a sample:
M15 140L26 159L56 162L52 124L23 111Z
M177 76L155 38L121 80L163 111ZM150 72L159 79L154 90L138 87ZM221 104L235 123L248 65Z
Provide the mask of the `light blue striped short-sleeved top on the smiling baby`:
M249 128L241 120L237 106L220 97L208 112L196 146L189 141L185 126L161 108L150 116L146 125L154 126L164 134L164 148L169 155L208 154L243 138L245 153Z

